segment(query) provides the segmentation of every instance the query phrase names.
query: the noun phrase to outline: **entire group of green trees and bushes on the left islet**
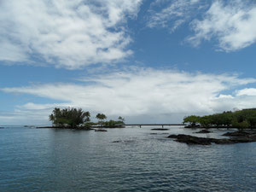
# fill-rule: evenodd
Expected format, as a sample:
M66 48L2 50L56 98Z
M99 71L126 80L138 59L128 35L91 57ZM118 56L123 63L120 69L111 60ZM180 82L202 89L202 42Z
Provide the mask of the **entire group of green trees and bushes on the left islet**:
M67 127L73 129L87 128L92 126L101 127L121 127L125 124L125 119L119 117L118 120L106 121L107 116L103 113L97 113L96 119L97 123L90 121L90 112L84 112L81 108L55 108L53 112L49 115L49 120L55 127Z

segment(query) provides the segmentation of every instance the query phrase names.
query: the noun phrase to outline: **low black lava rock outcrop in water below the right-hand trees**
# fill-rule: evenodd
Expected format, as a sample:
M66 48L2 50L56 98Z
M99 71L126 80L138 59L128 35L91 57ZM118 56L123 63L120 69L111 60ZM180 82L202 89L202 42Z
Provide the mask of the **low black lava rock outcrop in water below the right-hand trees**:
M189 145L211 145L215 144L234 144L234 143L252 143L256 142L256 132L227 132L223 136L229 136L230 138L207 138L207 137L195 137L190 135L178 134L170 135L168 138L174 138L176 142L187 143Z

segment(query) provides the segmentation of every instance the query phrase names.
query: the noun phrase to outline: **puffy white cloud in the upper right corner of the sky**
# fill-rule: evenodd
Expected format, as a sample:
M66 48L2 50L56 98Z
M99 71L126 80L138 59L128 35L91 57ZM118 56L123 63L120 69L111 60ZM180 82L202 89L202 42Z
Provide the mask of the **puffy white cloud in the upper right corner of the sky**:
M256 41L256 4L249 1L214 1L203 20L194 20L193 37L188 40L195 46L202 40L218 39L224 51L245 48Z

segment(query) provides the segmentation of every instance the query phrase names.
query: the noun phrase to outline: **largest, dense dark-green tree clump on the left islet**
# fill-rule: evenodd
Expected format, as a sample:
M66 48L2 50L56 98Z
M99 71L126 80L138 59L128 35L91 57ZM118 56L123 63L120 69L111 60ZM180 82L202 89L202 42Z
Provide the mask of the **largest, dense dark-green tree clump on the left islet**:
M90 112L84 112L82 108L55 108L49 115L49 120L53 125L76 128L84 122L90 121Z

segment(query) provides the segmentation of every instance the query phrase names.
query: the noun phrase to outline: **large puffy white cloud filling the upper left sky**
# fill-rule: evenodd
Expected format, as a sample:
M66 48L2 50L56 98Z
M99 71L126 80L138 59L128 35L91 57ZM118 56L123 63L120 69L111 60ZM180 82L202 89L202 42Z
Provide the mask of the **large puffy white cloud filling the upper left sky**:
M127 17L142 0L1 1L0 60L79 68L131 55Z

